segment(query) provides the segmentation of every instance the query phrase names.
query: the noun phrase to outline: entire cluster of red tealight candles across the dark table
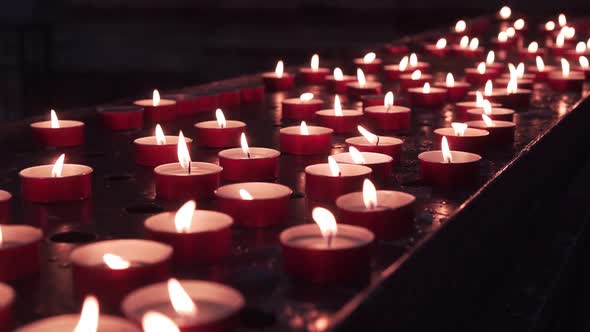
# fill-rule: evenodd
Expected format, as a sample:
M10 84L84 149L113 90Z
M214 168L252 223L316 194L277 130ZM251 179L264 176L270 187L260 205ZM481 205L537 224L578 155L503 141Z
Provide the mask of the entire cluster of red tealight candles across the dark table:
M447 188L478 183L481 155L491 147L511 145L516 128L514 109L528 107L534 83L546 82L558 92L580 92L589 78L590 45L575 43L575 28L568 25L565 15L540 27L551 41L545 49L534 41L526 49L517 49L527 23L523 18L513 20L510 8L503 7L498 19L503 22L502 28L491 45L495 51L516 49L523 62L496 62L495 52L490 50L484 61L465 68L464 81L448 73L444 82L433 82L433 75L428 73L430 64L419 61L415 53L399 63L384 64L370 52L353 60L356 76L344 75L340 68L330 75L328 68L320 67L317 55L298 74L287 72L279 61L274 72L262 74L267 90L289 90L297 77L304 84L325 84L335 93L329 109L324 109L324 101L312 93L282 101L284 119L297 121L297 125L280 130L280 151L250 147L245 135L247 124L227 120L221 109L216 110L215 120L194 125L194 141L182 131L177 136L164 134L157 123L211 106L207 96L167 99L155 90L152 99L102 107L99 114L107 128L141 128L144 120L155 125L154 136L133 142L135 161L154 167L158 198L185 203L176 212L147 218L147 240L100 241L75 249L71 254L73 284L76 294L85 297L81 315L49 318L18 331L139 331L139 326L145 331L167 332L233 330L245 303L243 296L217 283L173 279L170 265L211 264L228 257L234 225L269 227L282 223L288 216L292 190L273 183L281 153L328 155L334 134L356 131L360 136L345 140L348 152L327 156L326 163L304 170L305 193L316 224L289 227L279 240L285 271L295 278L328 283L366 277L375 239L395 240L411 234L416 198L375 186L388 183L394 165L401 160L403 141L376 135L363 125L380 131L407 131L412 109L396 105L392 92L381 95L382 84L368 81L365 74L382 73L385 80L399 82L413 108L440 109L454 103L456 119L465 122L436 129L435 145L440 149L418 155L424 183ZM468 35L471 32L467 22L460 20L448 35L425 43L424 51L435 56L483 58L484 48L478 38ZM557 56L560 66L545 65L543 57L547 55ZM527 67L525 62L532 59L535 65ZM571 61L579 65L572 67ZM508 73L502 74L506 68ZM259 92L245 89L237 97L255 100ZM363 110L343 109L338 94L362 100ZM219 100L232 103L237 97L226 93ZM44 146L84 144L84 123L59 120L53 110L49 121L33 123L31 128ZM193 161L193 143L223 149L218 153L219 164ZM54 164L22 170L23 199L56 203L89 198L93 169L66 160L62 154ZM232 183L221 186L222 180ZM9 220L11 197L0 191L0 223ZM206 198L215 198L219 211L197 209L196 201ZM333 207L336 216L326 206ZM39 271L42 237L39 229L30 226L0 227L0 264L12 267L0 269L0 281ZM13 299L12 289L0 284L0 330L9 324ZM99 318L99 302L120 306L127 319L108 315Z

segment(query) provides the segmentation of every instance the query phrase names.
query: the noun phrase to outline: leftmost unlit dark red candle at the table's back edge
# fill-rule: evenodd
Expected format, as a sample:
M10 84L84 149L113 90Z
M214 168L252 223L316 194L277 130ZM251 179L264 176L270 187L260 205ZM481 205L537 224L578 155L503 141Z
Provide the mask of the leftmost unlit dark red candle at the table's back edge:
M99 106L98 116L102 125L110 130L143 128L143 107L107 105Z

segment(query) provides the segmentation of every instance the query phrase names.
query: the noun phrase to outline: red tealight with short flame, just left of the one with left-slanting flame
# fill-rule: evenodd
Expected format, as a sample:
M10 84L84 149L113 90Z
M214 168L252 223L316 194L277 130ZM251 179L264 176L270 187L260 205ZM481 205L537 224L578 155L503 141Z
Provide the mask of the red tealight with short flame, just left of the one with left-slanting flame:
M332 148L332 133L326 127L308 126L305 121L299 126L281 128L281 152L294 155L328 154Z

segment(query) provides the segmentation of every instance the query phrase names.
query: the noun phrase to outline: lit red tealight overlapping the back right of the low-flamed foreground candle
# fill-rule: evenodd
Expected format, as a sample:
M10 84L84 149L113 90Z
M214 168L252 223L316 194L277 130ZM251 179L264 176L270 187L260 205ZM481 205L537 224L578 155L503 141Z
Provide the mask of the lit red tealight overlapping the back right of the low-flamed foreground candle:
M196 210L186 202L176 213L164 212L146 219L147 237L170 245L178 265L210 264L231 253L233 219L217 211Z

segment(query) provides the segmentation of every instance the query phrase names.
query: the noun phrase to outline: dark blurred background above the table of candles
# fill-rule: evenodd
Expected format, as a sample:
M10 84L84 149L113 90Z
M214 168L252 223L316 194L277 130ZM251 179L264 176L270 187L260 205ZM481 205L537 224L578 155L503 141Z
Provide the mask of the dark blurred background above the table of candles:
M491 13L497 1L4 0L0 119L324 58ZM513 1L535 15L590 1Z

